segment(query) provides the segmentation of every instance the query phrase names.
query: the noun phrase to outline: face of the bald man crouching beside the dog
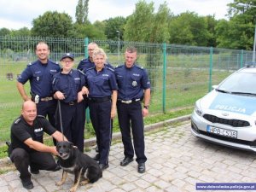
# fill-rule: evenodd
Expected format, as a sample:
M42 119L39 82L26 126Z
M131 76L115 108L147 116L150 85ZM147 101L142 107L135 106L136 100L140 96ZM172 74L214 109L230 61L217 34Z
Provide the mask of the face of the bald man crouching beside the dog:
M29 125L33 124L34 119L37 117L37 107L36 104L32 101L24 102L23 108L21 111L23 118Z

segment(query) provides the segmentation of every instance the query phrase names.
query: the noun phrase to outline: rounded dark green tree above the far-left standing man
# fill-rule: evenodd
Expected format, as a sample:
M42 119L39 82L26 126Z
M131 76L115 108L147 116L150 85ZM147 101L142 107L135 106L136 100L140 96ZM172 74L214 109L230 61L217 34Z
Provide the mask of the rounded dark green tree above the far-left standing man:
M32 20L32 36L71 38L73 33L72 17L66 13L47 11Z

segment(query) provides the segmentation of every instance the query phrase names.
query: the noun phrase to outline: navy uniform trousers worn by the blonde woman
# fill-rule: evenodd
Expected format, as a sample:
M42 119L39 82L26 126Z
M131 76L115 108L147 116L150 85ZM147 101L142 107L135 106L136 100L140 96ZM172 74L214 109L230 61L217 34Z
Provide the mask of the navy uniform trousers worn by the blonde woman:
M112 102L89 102L90 120L96 132L100 164L108 164L108 154L112 139L112 119L110 116Z

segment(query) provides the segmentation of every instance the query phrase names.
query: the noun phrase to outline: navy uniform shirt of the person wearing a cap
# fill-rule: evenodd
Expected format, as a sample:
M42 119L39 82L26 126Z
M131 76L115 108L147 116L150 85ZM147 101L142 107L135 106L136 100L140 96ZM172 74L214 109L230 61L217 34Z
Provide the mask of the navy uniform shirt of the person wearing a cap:
M54 93L59 90L64 94L63 102L77 101L78 92L82 90L84 85L84 73L76 69L72 69L67 74L61 72L55 74L52 82Z

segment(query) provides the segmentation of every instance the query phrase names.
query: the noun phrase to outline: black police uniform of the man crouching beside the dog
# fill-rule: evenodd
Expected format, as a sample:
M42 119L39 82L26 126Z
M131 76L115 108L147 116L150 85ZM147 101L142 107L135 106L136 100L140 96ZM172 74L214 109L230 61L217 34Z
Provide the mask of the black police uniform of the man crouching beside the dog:
M38 115L33 121L33 125L28 125L21 115L11 126L11 143L12 153L10 159L15 163L17 170L20 172L20 179L26 180L31 178L28 172L28 166L31 171L48 170L55 171L57 164L50 153L38 152L29 148L24 142L28 138L43 143L43 135L46 132L49 135L55 133L55 128L49 124L44 116Z

